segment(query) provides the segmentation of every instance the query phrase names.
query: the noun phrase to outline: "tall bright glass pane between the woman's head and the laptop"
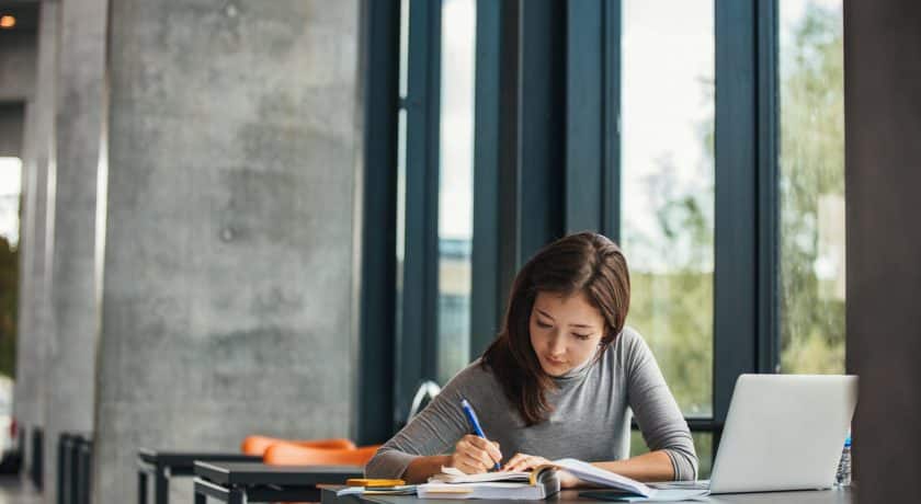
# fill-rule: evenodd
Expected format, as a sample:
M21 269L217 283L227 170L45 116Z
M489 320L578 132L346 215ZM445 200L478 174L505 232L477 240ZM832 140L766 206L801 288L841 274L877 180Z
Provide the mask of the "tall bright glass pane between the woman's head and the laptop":
M713 414L714 4L623 5L627 324L649 343L684 414L706 417Z

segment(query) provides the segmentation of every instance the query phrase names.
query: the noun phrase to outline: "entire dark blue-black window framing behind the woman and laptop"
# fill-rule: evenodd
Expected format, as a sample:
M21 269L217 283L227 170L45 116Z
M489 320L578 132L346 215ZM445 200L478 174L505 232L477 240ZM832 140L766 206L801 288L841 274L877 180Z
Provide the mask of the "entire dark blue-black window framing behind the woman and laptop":
M692 431L714 433L714 453L738 376L777 369L777 2L714 3L714 408L709 419L687 419ZM373 7L379 3L386 7ZM382 185L376 187L393 194L365 192L365 256L383 250L390 264L375 270L369 260L363 262L361 344L367 348L363 355L385 358L362 359L359 401L375 405L357 411L371 415L361 416L360 426L379 426L382 412L387 411L384 425L390 434L405 420L414 388L435 377L437 355L441 1L408 4L408 95L397 102L388 98L390 116L379 100L372 100L371 91L365 103L366 152L373 152L373 139L394 142L386 150L387 170L365 163L365 184L378 180ZM389 23L387 44L383 36L372 36L374 20L365 23L365 58L371 62L366 61L366 79L375 82L367 88L377 88L379 77L393 81L385 88L395 90L399 1L366 0L365 5L369 13L389 12L377 19ZM621 0L477 2L471 356L479 355L499 331L511 280L539 247L585 229L615 241L619 238L621 8ZM375 57L380 54L386 56ZM374 61L386 61L388 70L374 73ZM406 228L402 280L403 296L409 297L397 334L396 283L387 275L396 274L390 251L396 241L400 107L408 116L406 215L414 220ZM387 289L389 305L384 302ZM387 309L389 316L384 313ZM390 360L383 350L387 345L393 346ZM384 436L383 428L363 432L373 432L360 436L367 442L389 435Z

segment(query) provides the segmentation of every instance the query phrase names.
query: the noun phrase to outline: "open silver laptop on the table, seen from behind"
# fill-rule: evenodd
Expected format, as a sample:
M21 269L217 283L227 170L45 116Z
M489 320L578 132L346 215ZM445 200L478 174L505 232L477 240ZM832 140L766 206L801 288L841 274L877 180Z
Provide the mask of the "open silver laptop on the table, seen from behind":
M651 486L712 494L831 488L856 404L856 376L741 375L709 481Z

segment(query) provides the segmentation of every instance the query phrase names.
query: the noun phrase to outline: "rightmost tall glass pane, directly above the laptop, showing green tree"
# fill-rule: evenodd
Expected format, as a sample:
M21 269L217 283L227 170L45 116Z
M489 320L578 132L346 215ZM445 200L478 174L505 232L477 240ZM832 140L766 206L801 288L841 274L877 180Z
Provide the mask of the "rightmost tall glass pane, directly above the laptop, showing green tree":
M780 3L781 371L844 371L841 0Z

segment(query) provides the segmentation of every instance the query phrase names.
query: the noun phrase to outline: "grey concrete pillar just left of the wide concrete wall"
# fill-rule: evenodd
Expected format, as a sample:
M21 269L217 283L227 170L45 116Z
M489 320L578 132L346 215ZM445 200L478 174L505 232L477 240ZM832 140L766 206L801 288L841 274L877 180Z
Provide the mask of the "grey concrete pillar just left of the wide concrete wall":
M61 431L93 427L96 171L102 133L106 0L67 0L60 5L56 89L54 245L50 270L52 337L46 357L45 460L53 462ZM45 463L45 481L57 466ZM45 485L56 502L54 484Z

